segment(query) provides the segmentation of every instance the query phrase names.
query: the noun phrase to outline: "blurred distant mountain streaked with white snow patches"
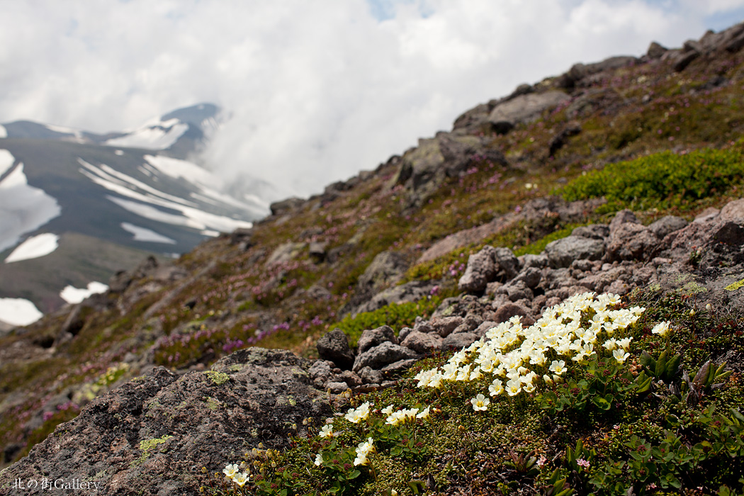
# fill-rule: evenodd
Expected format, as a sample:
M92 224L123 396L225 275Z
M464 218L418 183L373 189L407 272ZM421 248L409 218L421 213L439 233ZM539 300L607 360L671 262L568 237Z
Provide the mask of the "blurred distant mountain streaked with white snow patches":
M218 128L210 103L106 135L2 124L0 321L28 323L147 254L181 254L266 215L258 196L231 196L189 161Z

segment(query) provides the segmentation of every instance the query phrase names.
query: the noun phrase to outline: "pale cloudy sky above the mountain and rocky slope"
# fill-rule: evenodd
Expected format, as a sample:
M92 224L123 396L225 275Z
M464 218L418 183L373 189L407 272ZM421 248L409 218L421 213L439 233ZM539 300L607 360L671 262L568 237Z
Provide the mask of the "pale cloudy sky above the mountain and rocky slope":
M0 122L94 132L199 102L205 158L307 196L574 62L679 47L744 0L0 0Z

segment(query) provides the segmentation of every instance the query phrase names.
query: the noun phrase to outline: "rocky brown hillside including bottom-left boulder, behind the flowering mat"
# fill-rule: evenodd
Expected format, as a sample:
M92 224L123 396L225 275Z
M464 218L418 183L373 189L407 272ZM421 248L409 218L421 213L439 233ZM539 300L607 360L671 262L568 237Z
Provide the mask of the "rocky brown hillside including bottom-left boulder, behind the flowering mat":
M515 315L534 321L571 294L652 284L740 318L741 175L653 201L548 193L615 162L670 161L667 149L738 153L743 46L737 25L520 86L377 170L272 204L252 229L173 265L148 260L106 294L9 332L4 461L54 434L0 482L77 477L103 484L100 494L195 493L194 471L219 471L259 442L285 448L286 434L327 416L344 390L394 387L424 355ZM630 173L642 162L627 164ZM230 354L249 345L320 359ZM713 358L740 372L731 352Z

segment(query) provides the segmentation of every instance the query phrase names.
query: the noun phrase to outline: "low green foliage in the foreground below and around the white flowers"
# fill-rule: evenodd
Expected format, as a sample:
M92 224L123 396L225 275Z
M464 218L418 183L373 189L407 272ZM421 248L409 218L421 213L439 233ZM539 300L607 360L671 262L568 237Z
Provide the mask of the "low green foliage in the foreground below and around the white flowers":
M617 495L632 487L637 495L740 494L744 490L740 373L706 389L695 401L679 390L670 393L670 384L658 381L652 390L625 390L621 383L624 377L643 379L644 351L655 357L663 350L670 356L682 355L671 384L682 381L683 371L695 376L708 360L720 365L722 356L743 351L744 320L732 320L718 309L697 308L692 297L673 292L638 291L622 304L635 305L646 310L632 328L630 358L609 379L620 391L610 408L593 402L599 395L596 391L562 392L558 386L554 390L559 396L589 391L589 401L555 411L545 402L551 388L542 386L529 395L498 396L487 410L475 411L470 399L482 393L490 379L449 382L441 389L421 389L410 379L449 358L440 355L420 362L396 387L338 405L339 413L362 402L371 402L373 408L429 406L430 419L385 430L371 420L353 424L336 417L337 437L318 437L320 426L315 426L307 438L294 439L289 451L249 454L243 461L251 481L243 489L225 481L222 474L205 477L205 489L213 494L257 495L389 495L392 491L399 495L549 495L559 494L560 487L565 495ZM693 309L696 313L690 315ZM662 319L671 322L669 338L651 332ZM605 367L599 364L600 370L591 364L570 366L566 383L593 381ZM743 365L728 367L741 370ZM684 381L680 384L684 389ZM370 435L376 439L376 453L369 465L353 466L351 459L344 465L341 446L354 448ZM335 450L338 463L325 460L324 466L316 466L316 454L328 450ZM233 462L225 460L225 464ZM726 492L729 489L732 492Z

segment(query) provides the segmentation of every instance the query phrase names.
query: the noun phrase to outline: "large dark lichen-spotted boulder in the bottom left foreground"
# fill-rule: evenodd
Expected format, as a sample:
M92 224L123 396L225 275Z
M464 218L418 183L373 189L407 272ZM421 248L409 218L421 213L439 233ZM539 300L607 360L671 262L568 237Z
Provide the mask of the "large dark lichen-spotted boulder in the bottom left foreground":
M179 377L158 367L94 399L1 472L0 486L54 475L94 481L97 494L199 495L209 477L202 466L219 472L260 442L282 451L289 434L307 435L303 419L332 414L309 365L291 352L250 348L207 372ZM41 483L29 494L45 494Z

